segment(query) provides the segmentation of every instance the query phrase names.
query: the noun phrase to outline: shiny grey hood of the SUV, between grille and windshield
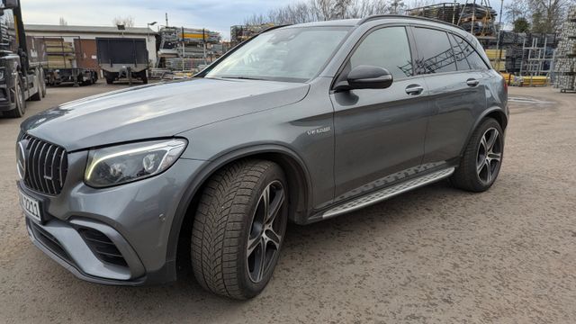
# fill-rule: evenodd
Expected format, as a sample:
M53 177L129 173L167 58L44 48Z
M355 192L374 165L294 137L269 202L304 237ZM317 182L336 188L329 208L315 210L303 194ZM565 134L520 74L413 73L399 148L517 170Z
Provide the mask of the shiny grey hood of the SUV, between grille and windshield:
M143 85L64 103L22 124L68 151L174 136L209 123L295 103L310 85L210 79Z

